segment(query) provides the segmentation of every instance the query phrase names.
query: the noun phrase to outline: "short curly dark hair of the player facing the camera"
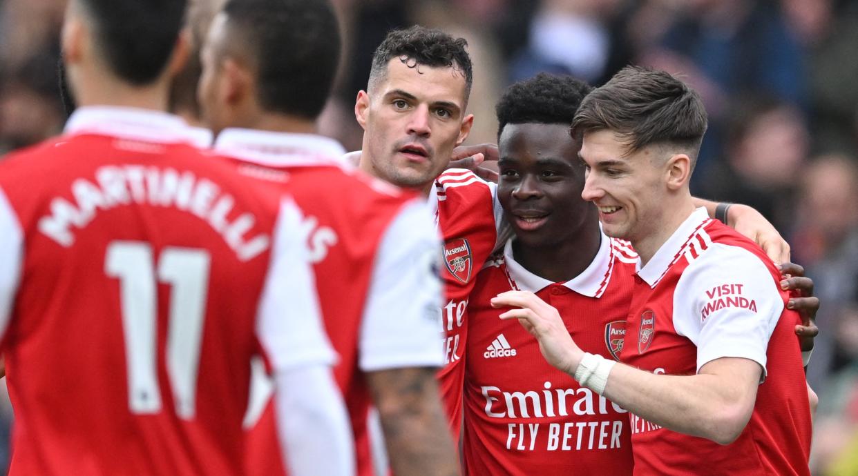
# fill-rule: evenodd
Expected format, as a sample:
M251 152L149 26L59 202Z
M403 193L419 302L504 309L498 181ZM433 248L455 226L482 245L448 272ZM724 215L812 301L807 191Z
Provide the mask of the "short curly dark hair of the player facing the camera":
M372 84L387 74L387 63L395 57L408 57L409 67L418 65L431 68L455 68L465 76L465 101L474 84L474 68L465 48L468 41L453 38L441 30L414 25L405 29L391 30L372 55L370 80ZM403 61L404 62L404 61Z

